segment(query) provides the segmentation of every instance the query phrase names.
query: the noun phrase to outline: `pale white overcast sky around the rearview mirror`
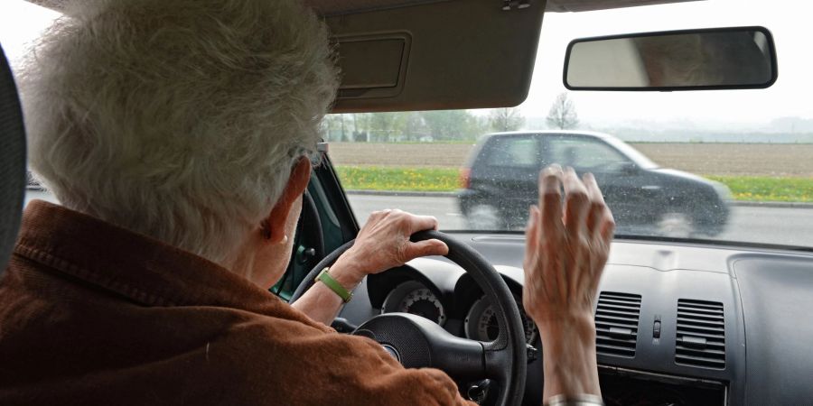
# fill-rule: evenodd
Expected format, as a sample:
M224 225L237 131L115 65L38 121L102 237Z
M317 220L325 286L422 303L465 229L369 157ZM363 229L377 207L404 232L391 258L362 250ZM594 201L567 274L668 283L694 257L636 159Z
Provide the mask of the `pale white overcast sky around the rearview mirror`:
M527 116L545 116L556 95L565 91L565 47L575 38L625 32L762 25L774 35L779 79L762 90L705 92L571 92L579 115L592 123L636 119L651 121L762 124L782 116L813 118L813 33L809 0L708 0L610 11L547 14ZM19 60L24 43L36 38L58 14L23 0L2 0L0 42L10 60Z

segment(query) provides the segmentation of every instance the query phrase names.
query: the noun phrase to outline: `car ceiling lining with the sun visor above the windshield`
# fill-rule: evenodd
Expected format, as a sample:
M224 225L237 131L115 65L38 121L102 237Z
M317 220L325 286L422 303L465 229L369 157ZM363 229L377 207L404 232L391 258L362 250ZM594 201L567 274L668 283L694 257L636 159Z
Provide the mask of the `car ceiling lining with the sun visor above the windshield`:
M62 11L77 0L27 1ZM503 0L304 1L339 50L332 112L353 113L518 106L545 12L693 0L511 0L508 10Z

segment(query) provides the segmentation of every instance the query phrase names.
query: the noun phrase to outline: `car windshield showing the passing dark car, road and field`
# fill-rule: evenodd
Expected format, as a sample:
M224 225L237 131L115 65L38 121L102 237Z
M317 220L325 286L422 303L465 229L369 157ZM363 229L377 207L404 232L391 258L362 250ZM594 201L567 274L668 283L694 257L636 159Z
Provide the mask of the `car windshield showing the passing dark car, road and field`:
M617 235L813 246L813 91L798 2L713 0L546 14L515 108L329 116L324 136L360 223L382 208L442 230L519 231L550 163L593 172ZM735 11L735 12L734 12ZM568 92L567 43L761 25L780 75L761 90Z

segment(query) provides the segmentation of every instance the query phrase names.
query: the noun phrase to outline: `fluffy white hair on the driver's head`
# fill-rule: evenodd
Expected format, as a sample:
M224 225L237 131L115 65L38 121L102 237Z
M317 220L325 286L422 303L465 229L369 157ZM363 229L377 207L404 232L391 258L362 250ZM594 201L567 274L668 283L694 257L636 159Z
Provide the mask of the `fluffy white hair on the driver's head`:
M68 208L233 261L320 139L326 27L296 0L74 3L23 69L33 171Z

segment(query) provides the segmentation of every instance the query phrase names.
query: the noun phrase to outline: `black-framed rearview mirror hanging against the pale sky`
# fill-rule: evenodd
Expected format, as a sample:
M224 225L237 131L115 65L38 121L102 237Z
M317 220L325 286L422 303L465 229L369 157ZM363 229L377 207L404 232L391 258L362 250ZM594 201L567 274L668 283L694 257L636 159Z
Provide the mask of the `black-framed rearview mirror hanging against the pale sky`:
M762 27L584 38L565 54L571 90L768 88L776 76L773 38Z

